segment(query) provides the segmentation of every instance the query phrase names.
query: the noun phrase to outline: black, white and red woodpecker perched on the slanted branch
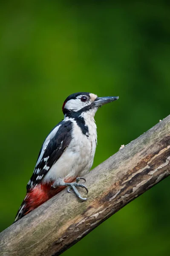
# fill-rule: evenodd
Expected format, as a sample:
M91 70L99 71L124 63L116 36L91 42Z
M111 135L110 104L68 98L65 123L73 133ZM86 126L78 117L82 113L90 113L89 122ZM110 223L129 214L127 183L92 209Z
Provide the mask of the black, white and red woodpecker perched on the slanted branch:
M80 180L92 167L97 145L95 113L99 107L118 97L101 97L93 93L73 93L63 103L64 119L46 137L37 163L26 186L15 221L18 221L62 189L72 191L85 201L77 187L88 189ZM14 222L15 222L14 221Z

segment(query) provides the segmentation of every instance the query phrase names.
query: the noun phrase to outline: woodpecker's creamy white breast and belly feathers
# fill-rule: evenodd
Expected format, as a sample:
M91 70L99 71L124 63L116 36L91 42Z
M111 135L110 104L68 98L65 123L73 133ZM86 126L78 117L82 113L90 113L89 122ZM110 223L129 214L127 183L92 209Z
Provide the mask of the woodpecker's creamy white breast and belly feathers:
M58 178L83 176L92 167L97 143L97 132L94 118L88 120L89 137L82 134L75 120L73 122L72 140L57 162L44 177L44 182L56 181ZM89 123L90 122L90 123Z

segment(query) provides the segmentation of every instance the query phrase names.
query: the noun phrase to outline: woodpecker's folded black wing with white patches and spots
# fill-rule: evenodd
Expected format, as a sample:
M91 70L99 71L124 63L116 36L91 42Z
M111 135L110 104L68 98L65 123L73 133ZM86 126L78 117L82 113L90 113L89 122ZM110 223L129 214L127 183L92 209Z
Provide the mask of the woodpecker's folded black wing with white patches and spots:
M46 137L38 155L33 175L26 186L27 192L43 180L53 164L61 157L72 140L71 130L71 121L61 121Z

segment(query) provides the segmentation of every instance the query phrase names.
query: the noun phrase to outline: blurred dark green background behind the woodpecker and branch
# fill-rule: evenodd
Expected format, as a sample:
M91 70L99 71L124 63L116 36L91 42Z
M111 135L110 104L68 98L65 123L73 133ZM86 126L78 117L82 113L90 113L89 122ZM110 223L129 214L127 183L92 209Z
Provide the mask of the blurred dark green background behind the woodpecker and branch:
M41 144L65 98L119 96L96 113L93 167L170 107L168 1L1 1L1 230L14 221ZM170 255L170 178L121 209L64 256Z

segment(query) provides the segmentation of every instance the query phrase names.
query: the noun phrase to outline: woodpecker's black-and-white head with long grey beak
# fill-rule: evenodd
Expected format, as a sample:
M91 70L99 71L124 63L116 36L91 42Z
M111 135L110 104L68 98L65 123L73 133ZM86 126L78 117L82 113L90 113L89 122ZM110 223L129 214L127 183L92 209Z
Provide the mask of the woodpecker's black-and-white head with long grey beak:
M63 103L63 114L73 117L85 112L94 116L99 107L116 99L118 96L99 98L93 93L73 93Z

